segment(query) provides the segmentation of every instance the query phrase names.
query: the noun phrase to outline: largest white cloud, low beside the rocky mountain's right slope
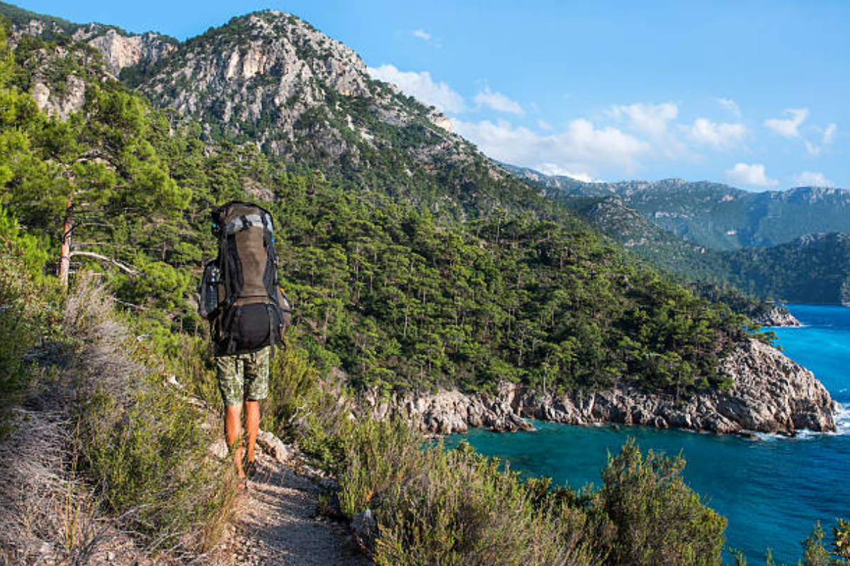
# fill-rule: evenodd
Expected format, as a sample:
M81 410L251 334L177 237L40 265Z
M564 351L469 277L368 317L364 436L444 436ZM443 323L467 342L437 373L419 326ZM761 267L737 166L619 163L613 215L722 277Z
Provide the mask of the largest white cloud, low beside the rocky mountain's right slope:
M588 178L600 167L618 167L632 173L640 166L638 160L652 152L649 143L615 127L598 128L588 120L573 120L563 132L545 135L506 120L495 124L490 120L453 120L452 126L496 160L526 167L557 164L562 171Z

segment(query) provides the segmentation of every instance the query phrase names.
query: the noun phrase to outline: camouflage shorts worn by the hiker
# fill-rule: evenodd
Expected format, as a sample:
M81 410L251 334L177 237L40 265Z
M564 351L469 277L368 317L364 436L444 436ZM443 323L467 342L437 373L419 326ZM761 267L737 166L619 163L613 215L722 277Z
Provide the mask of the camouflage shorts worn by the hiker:
M266 346L250 354L215 358L218 390L225 406L241 405L243 397L247 401L260 401L269 395L270 350Z

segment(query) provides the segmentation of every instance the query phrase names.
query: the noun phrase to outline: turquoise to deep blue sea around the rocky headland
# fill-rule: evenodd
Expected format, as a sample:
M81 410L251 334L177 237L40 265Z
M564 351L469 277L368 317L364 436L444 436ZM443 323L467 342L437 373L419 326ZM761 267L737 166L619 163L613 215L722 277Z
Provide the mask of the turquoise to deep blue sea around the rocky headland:
M791 359L811 369L840 404L835 434L804 431L795 438L759 440L645 427L574 427L536 422L530 433L473 429L465 437L478 451L505 458L523 474L547 475L575 487L598 484L606 455L629 436L645 451L680 451L689 485L728 518L728 546L764 563L796 564L801 541L820 520L850 518L850 308L789 305L802 328L774 328ZM847 407L847 408L843 408Z

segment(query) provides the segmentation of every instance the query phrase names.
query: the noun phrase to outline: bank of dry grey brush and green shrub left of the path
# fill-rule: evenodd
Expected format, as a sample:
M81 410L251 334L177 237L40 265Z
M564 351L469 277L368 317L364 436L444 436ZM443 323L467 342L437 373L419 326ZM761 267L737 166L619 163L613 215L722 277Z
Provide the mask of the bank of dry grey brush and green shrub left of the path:
M209 563L234 499L207 414L145 367L94 277L65 305L65 339L28 355L31 386L0 444L0 560Z

